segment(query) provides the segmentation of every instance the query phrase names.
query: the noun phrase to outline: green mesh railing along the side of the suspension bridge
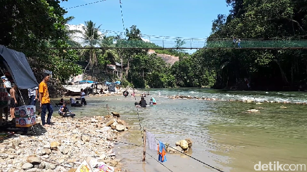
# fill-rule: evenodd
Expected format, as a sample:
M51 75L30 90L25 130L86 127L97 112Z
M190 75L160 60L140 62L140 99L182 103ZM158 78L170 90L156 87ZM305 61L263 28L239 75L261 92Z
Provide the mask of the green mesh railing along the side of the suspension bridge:
M144 40L93 40L92 46L104 48L232 48L238 47L232 39L182 39L177 47L178 39L171 38L150 38ZM90 46L90 43L78 40L82 47ZM242 48L282 48L282 47L307 47L307 40L294 39L240 39Z

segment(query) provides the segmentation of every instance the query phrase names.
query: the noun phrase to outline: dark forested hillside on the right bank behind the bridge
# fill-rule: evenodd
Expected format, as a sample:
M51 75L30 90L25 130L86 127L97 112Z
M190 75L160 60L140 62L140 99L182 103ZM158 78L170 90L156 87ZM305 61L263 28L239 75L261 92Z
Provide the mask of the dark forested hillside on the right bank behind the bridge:
M307 0L226 0L230 14L212 23L211 39L283 38L307 41ZM305 35L305 37L303 37ZM299 37L302 36L302 37ZM244 47L244 42L241 43ZM305 90L307 51L199 50L192 55L216 78L214 88ZM196 62L195 62L196 63Z

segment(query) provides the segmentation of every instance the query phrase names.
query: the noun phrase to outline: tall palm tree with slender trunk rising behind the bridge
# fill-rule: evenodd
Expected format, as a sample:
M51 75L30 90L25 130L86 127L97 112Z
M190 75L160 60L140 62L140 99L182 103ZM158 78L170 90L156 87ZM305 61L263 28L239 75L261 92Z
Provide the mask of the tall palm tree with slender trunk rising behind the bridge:
M102 34L99 33L100 26L96 27L96 23L94 23L92 20L85 21L85 26L82 27L82 39L84 40L83 44L86 44L86 47L93 48L100 42L100 39L102 38ZM90 49L90 59L89 63L84 69L84 73L89 65L91 68L93 68L94 64L97 65L96 50Z

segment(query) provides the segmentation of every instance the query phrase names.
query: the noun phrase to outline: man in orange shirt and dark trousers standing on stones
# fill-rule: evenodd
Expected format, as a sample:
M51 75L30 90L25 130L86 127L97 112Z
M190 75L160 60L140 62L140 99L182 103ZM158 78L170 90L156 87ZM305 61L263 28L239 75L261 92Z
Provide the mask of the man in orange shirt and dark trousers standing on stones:
M42 118L42 125L44 127L49 127L51 116L53 113L52 105L50 104L50 97L47 86L47 82L49 81L49 74L44 74L43 77L44 79L39 85L40 101L42 107L41 118ZM47 124L45 120L46 110L48 110Z

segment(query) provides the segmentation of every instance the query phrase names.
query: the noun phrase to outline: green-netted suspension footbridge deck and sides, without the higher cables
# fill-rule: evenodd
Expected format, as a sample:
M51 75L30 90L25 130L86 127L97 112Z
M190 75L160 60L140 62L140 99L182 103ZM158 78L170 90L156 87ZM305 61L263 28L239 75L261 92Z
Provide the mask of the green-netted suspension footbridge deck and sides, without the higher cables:
M240 46L226 39L189 39L181 46L177 46L175 40L119 40L111 44L104 43L105 40L94 40L95 44L79 42L79 45L71 45L69 49L307 49L307 40L250 40L242 39ZM49 48L56 49L56 48Z

